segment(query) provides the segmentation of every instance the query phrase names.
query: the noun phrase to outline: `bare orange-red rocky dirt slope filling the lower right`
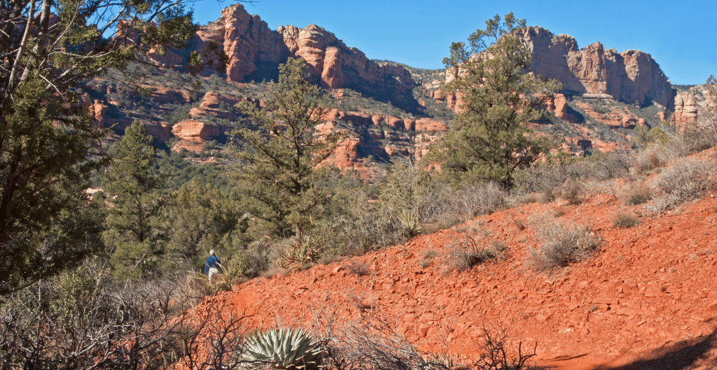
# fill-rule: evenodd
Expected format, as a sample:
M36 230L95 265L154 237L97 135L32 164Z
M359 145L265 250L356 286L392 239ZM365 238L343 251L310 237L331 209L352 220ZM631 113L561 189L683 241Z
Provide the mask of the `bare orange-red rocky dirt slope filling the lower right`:
M513 343L537 344L538 364L551 369L715 369L717 193L655 215L650 203L628 206L614 196L627 186L617 181L581 205L529 203L385 250L255 278L196 311L222 304L253 315L252 325L307 326L312 310L351 321L370 307L396 320L419 349L437 349L447 334L450 351L464 359L475 356L480 328L498 325L511 328ZM617 213L642 215L641 222L616 228ZM532 271L536 215L592 225L599 253L554 273ZM505 243L507 259L451 270L448 246L466 228ZM422 267L426 250L438 256ZM351 273L352 263L369 273Z

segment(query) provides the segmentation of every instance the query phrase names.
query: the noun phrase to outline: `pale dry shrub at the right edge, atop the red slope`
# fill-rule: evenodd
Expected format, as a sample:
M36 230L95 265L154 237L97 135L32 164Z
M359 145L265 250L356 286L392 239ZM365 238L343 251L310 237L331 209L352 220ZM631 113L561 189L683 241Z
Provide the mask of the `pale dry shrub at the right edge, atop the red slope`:
M683 158L665 168L655 179L655 188L661 193L655 200L655 210L663 212L675 208L717 188L715 167L712 161Z

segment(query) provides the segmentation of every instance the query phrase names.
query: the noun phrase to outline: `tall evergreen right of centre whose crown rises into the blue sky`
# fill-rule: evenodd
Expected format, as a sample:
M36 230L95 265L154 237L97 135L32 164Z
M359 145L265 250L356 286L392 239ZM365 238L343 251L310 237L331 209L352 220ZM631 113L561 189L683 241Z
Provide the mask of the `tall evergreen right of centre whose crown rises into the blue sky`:
M525 19L498 14L468 44L451 44L443 60L452 73L445 84L462 100L450 130L432 153L452 182L496 181L508 188L513 172L550 148L528 122L541 118L543 104L561 89L556 80L529 73L531 54L519 32Z

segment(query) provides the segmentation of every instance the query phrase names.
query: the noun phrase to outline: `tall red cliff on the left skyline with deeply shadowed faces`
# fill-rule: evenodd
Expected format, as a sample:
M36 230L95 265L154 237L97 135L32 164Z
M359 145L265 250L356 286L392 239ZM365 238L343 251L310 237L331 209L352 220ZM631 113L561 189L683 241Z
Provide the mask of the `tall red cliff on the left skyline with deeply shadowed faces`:
M156 59L168 63L191 50L201 51L211 41L223 46L229 57L227 79L234 82L276 80L279 64L301 57L309 64L310 78L326 89L349 88L409 112L421 109L412 94L414 80L404 67L379 65L315 24L303 29L280 26L272 31L241 4L227 7L217 21L200 26L188 49ZM211 73L211 69L204 72Z

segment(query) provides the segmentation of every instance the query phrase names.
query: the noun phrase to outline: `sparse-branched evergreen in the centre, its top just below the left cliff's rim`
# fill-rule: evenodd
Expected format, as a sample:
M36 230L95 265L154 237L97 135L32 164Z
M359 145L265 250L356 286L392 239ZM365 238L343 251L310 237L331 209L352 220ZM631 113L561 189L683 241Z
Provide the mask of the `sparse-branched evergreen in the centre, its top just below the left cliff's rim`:
M315 135L331 107L320 87L308 82L304 60L289 59L279 70L279 82L270 83L265 109L238 106L258 130L235 132L244 148L237 153L234 176L252 215L272 223L280 235L293 230L301 236L317 206L328 198L328 191L315 182L331 171L320 163L333 153L342 135Z

